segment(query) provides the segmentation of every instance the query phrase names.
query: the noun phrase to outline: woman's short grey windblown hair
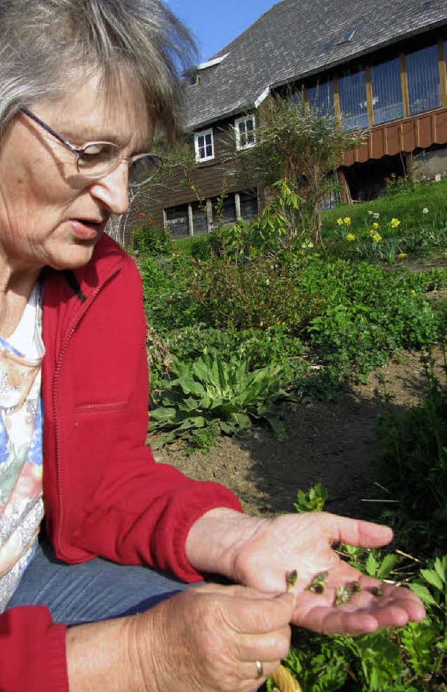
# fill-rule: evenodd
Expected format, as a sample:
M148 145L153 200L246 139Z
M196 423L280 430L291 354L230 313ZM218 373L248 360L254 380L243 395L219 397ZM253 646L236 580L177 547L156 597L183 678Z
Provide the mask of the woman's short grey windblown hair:
M124 71L172 141L180 75L195 58L189 31L160 0L0 0L0 129L20 105L69 93L86 71L112 97Z

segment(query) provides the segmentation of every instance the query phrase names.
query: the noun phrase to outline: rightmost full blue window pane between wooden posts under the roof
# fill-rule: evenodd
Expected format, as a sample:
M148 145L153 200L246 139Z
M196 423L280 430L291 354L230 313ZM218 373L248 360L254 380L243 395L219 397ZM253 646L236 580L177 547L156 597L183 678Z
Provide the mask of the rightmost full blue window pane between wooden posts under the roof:
M437 45L406 56L406 78L411 115L441 106Z

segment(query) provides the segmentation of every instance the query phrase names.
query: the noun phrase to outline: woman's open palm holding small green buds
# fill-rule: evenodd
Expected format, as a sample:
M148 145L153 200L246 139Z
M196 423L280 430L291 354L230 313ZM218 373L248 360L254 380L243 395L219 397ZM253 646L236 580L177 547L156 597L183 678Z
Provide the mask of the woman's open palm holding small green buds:
M387 526L327 512L250 519L231 510L213 510L199 525L202 538L206 531L212 535L212 524L206 524L216 519L217 531L225 539L221 554L212 556L214 571L220 571L221 565L223 573L235 582L265 593L281 593L287 589L288 575L296 570L291 591L295 596L292 621L297 625L325 633L357 635L405 625L425 615L414 593L360 575L332 549L332 544L339 541L361 547L386 545L393 538ZM212 554L212 549L207 554ZM323 591L309 589L313 579L325 572ZM354 587L353 582L358 585ZM373 588L378 584L379 596L374 595ZM360 591L355 590L359 586ZM349 598L339 603L346 592Z

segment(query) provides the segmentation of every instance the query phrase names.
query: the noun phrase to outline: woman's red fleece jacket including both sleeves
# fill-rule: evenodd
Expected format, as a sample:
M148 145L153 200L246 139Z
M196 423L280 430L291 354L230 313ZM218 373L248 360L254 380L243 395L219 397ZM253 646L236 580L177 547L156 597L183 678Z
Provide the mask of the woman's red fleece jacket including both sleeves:
M223 486L155 463L145 445L145 315L133 261L104 236L74 277L44 273L47 533L68 563L103 556L198 580L184 552L191 525L214 507L240 503ZM0 692L67 691L65 633L45 607L6 610Z

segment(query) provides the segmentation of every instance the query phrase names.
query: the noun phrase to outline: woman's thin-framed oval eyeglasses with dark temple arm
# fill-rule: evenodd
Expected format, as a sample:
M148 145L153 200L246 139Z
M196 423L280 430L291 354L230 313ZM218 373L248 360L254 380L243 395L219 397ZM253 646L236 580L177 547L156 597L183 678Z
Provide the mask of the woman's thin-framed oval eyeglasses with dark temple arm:
M75 164L80 175L90 180L99 180L108 173L112 173L118 168L119 164L127 161L129 165L129 186L139 187L145 185L159 173L163 161L155 154L134 154L133 156L122 156L119 146L113 142L87 142L83 147L77 149L67 142L64 137L54 132L43 120L31 113L31 110L20 106L22 113L34 120L38 125L56 138L61 144L75 154Z

